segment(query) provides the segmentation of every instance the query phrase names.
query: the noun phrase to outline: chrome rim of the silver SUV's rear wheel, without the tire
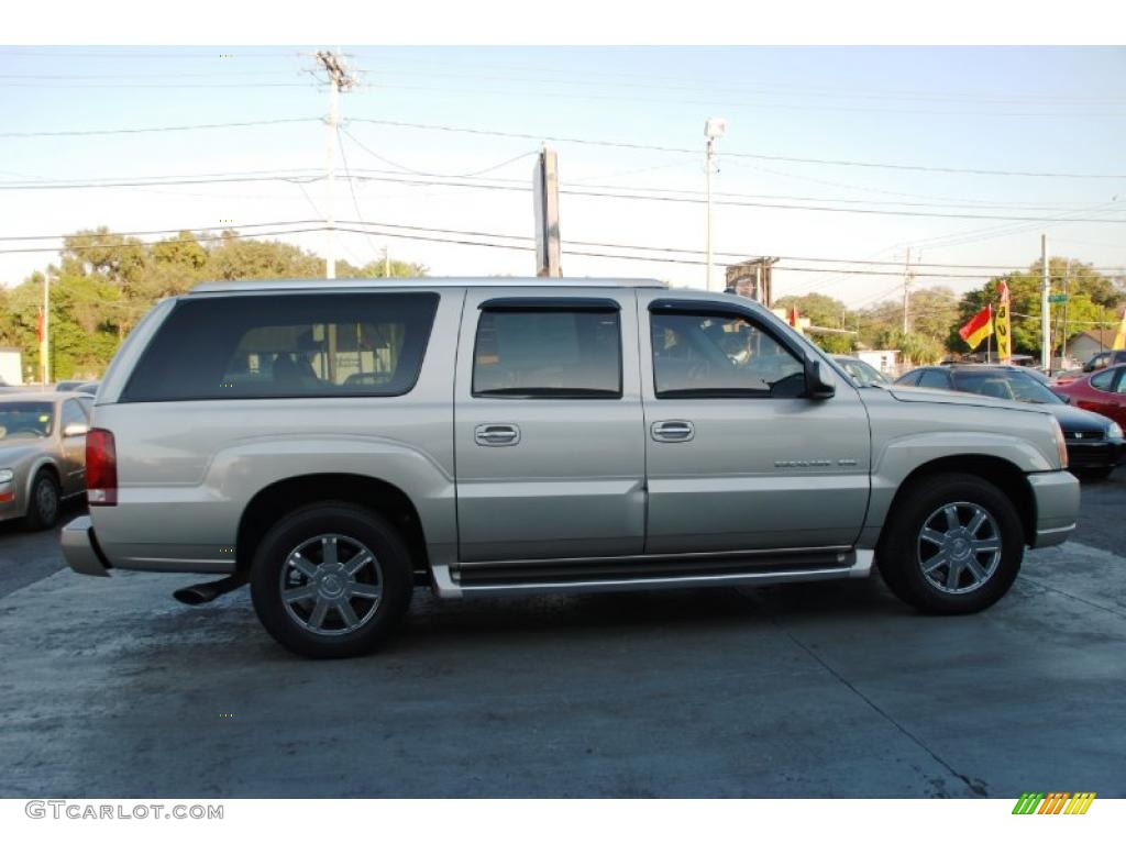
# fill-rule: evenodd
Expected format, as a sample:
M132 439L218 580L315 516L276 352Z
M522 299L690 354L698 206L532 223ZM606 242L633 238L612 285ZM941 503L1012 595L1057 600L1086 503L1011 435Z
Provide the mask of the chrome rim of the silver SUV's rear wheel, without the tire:
M321 533L286 555L278 581L282 604L298 627L343 636L375 616L383 569L372 550L345 533Z

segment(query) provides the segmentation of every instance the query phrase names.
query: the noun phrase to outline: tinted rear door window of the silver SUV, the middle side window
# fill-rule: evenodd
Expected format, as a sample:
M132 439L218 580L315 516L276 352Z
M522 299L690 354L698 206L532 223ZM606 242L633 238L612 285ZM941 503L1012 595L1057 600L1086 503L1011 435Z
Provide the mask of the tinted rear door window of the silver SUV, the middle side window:
M473 352L473 395L618 398L617 311L484 309Z

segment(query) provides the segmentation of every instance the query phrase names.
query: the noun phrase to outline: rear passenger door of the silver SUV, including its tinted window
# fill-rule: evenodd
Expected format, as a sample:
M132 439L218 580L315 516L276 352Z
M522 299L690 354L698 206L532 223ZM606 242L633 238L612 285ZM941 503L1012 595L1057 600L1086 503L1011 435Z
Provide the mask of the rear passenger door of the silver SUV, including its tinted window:
M462 560L642 551L632 289L471 289L455 390Z

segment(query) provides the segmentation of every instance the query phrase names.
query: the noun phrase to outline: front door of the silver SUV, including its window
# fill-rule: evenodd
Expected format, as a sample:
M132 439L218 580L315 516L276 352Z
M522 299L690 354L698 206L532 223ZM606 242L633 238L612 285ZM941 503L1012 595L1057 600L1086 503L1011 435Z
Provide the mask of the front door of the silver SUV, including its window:
M857 388L748 305L638 291L649 554L851 546L868 506L870 434Z

